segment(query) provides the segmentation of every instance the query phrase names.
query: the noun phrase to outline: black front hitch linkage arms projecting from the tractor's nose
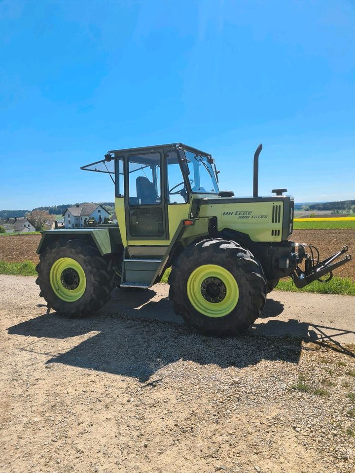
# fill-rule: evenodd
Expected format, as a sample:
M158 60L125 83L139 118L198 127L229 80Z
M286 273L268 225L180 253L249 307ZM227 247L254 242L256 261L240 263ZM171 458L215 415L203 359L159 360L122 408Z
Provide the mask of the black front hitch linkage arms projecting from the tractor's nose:
M348 246L343 246L343 248L335 253L329 258L326 258L324 261L320 261L319 258L319 251L316 247L312 245L299 245L300 247L308 246L311 249L311 255L304 253L302 259L305 260L305 270L301 270L299 266L297 266L296 270L294 271L292 278L295 283L295 286L298 288L305 287L312 281L319 280L320 282L328 282L333 277L332 270L339 268L339 266L345 265L348 261L351 261L351 255L345 255L344 258L337 261L336 263L332 263L334 260L339 258L339 256L343 255L348 251ZM315 249L318 253L317 261L315 261L313 249ZM327 279L320 279L325 274L329 273L329 277Z

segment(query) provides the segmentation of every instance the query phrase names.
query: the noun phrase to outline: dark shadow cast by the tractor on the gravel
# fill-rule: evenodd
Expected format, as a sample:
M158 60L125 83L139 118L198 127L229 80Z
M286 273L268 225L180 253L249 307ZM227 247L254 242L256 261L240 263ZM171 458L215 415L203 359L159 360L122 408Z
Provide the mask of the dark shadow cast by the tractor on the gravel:
M273 320L283 311L283 304L272 299L265 311L266 323L254 324L238 337L204 337L183 325L173 304L167 298L157 298L155 291L133 292L127 297L122 290L115 290L111 301L95 316L68 320L55 312L44 313L10 327L8 334L52 339L58 345L53 351L62 353L50 355L47 364L130 376L141 382L180 360L220 368L245 368L262 360L297 364L302 349L319 348L317 327L297 320ZM82 339L71 341L73 337ZM305 347L303 341L315 343ZM340 343L335 349L354 356Z

